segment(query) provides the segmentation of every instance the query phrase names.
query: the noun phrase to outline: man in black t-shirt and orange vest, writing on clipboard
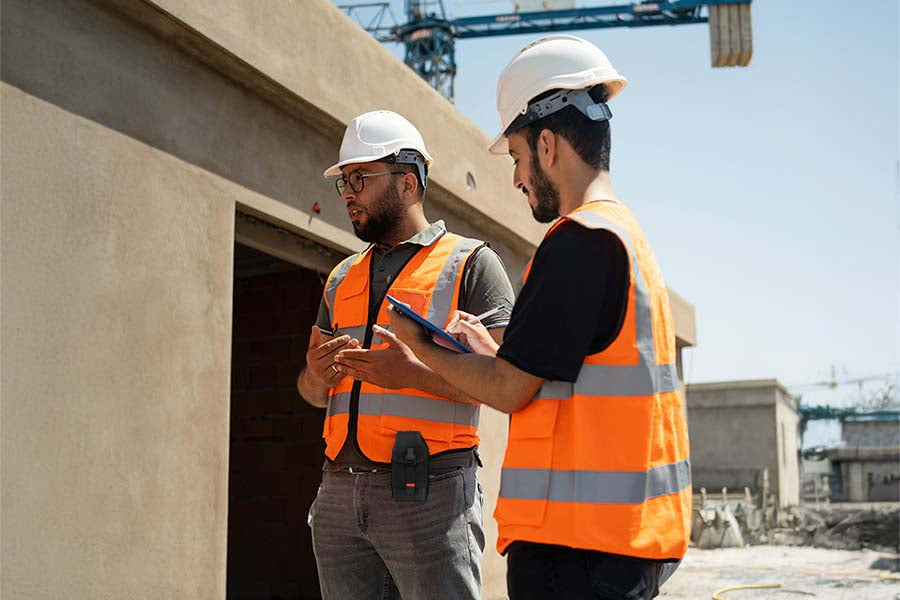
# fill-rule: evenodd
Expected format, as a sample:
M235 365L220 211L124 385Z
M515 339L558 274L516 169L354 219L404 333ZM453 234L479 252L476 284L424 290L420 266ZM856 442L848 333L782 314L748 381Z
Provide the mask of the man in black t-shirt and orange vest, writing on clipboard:
M511 414L497 549L511 600L657 595L687 549L691 486L662 273L609 176L626 80L593 44L525 46L497 84L501 131L535 219L556 222L499 347L470 315L455 354L396 312L393 333L473 398Z

